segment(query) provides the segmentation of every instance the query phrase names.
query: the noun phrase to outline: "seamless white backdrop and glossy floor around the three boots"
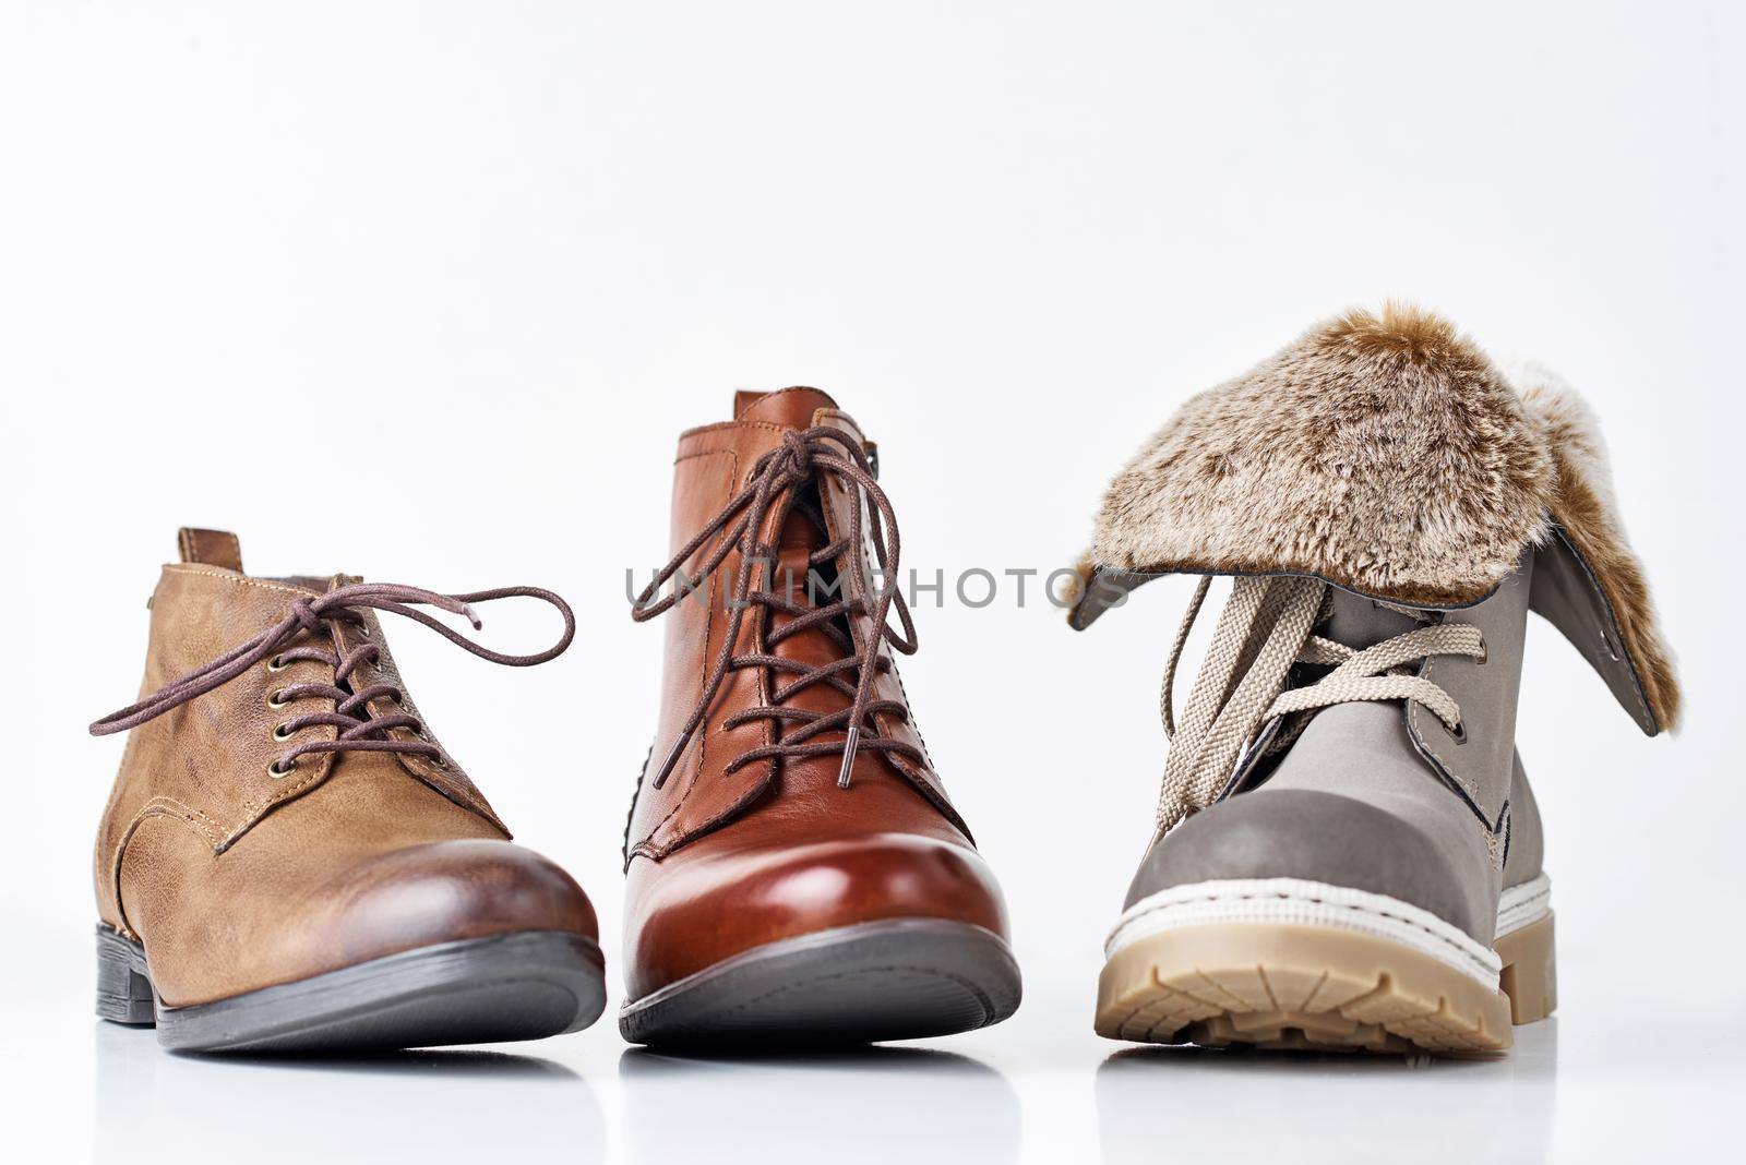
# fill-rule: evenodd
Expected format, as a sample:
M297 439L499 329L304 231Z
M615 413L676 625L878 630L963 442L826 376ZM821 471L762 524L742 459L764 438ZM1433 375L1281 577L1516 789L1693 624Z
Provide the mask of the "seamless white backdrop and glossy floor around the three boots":
M0 3L0 1104L24 1156L845 1162L1725 1153L1746 1036L1732 614L1741 49L1725 3ZM1186 582L1084 635L922 609L904 680L1027 1001L934 1052L223 1064L91 1020L93 828L182 523L257 574L552 586L576 647L391 628L601 909L681 427L817 384L918 569L1069 562L1191 391L1406 296L1594 403L1680 652L1645 739L1549 628L1521 752L1563 1008L1495 1062L1130 1055L1090 1031ZM1009 596L1007 596L1009 598ZM531 649L540 610L485 612Z

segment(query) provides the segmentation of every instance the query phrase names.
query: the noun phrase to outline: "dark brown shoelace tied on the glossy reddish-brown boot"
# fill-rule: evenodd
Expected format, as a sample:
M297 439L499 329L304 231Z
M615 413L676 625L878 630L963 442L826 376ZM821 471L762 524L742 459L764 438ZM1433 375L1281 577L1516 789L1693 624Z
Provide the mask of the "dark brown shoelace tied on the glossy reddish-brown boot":
M859 494L859 497L866 497L873 555L878 560L878 569L887 586L875 591L868 582L866 558L861 553L861 504L857 499L849 508L849 530L808 556L808 569L833 563L838 556L845 556L850 567L850 586L842 588L842 598L836 602L812 607L772 589L768 572L756 586L754 576L760 563L770 565L775 562L775 551L761 544L760 537L777 502L786 494L812 483L826 473L835 474L849 487L852 495ZM688 579L690 586L674 588L669 595L656 600L655 596L660 589L679 574L691 555L718 534L721 535L719 542L709 551L697 577ZM665 785L667 778L672 776L672 769L684 753L686 745L691 743L697 729L709 715L709 708L714 705L723 680L726 680L728 671L737 668L770 668L791 678L770 692L768 705L746 708L723 720L723 727L737 727L751 720L773 720L782 727L782 738L777 743L761 745L740 753L726 766L725 773L733 773L747 764L772 757L822 757L840 750L843 753L843 766L836 774L836 783L842 788L849 788L849 776L856 764L856 753L861 748L878 750L887 755L896 753L915 764L925 764L927 760L918 748L906 741L882 736L878 724L871 720L871 717L880 713L904 719L910 715L897 701L873 699L873 677L890 668L889 661L880 657L880 642L890 644L892 649L906 656L915 652L915 624L910 621L910 609L897 593L896 582L899 556L897 514L892 511L885 490L873 478L873 466L861 443L842 429L828 426L784 433L782 445L760 457L751 473L746 474L746 485L740 492L632 600L630 617L643 623L667 612L697 584L718 570L735 549L740 553L740 563L726 596L726 637L721 642L721 651L716 654L714 666L709 670L709 677L704 680L702 698L697 701L691 715L686 717L684 727L679 731L679 739L674 741L667 752L667 759L655 773L655 788ZM870 595L873 596L871 605L868 603ZM758 609L756 642L760 649L737 656L733 654L733 645L739 642L740 624L746 619L746 612L754 607ZM892 609L897 610L897 619L903 623L901 637L885 623ZM770 612L782 612L791 617L791 623L772 631ZM857 616L866 612L871 612L870 626L875 631L871 637L863 638L857 628ZM842 624L838 624L838 619L842 619ZM843 626L847 626L847 631ZM842 651L838 659L821 666L808 666L775 654L773 649L779 642L812 628L822 630L836 642ZM854 675L852 684L845 678L850 673ZM850 705L838 712L808 712L784 706L784 701L794 692L814 684L829 685L847 696ZM843 738L835 741L817 739L821 734L831 731L843 731Z

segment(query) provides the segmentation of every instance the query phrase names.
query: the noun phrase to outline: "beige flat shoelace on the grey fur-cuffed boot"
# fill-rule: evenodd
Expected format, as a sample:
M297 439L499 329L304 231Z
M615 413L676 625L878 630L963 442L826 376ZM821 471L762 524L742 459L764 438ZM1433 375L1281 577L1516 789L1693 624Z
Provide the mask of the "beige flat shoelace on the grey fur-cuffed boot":
M1355 651L1313 633L1325 617L1327 582L1247 576L1233 581L1179 726L1173 708L1177 664L1210 586L1212 577L1203 577L1194 588L1165 668L1159 712L1170 753L1158 797L1159 830L1217 801L1257 731L1275 717L1290 720L1268 743L1269 753L1289 748L1310 724L1310 713L1355 701L1411 699L1435 713L1451 732L1461 731L1461 708L1449 692L1406 668L1432 656L1484 659L1486 640L1479 628L1432 623ZM1297 663L1334 670L1315 684L1285 691Z

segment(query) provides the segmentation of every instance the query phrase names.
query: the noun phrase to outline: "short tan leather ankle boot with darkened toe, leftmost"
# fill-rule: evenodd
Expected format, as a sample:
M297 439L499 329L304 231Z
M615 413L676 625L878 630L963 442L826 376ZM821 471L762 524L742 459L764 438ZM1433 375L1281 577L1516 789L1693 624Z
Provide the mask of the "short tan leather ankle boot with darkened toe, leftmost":
M505 656L412 607L527 595L564 616ZM253 579L236 535L182 530L152 595L140 703L98 828L98 1015L171 1048L533 1039L604 1003L594 909L508 830L417 715L377 612L492 663L562 652L534 588ZM178 678L180 677L180 678Z

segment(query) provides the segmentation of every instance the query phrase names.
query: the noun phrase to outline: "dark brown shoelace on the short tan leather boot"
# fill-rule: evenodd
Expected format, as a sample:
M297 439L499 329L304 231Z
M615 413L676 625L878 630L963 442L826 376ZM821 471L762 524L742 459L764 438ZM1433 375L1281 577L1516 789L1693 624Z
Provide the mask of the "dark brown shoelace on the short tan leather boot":
M419 603L464 616L477 631L484 624L478 616L473 614L471 603L487 603L496 598L519 596L538 598L552 603L557 612L564 616L564 635L559 642L533 656L508 656L492 651L466 638L443 623L438 623L430 614L407 605ZM424 727L417 717L403 710L389 715L370 713L368 703L372 699L391 698L398 706L403 699L398 687L393 684L370 684L368 687L356 691L342 687L358 670L358 664L365 661L375 663L381 659L382 649L377 644L365 638L344 656L318 645L318 642L327 637L327 623L361 624L360 612L367 607L388 610L396 616L405 616L416 623L423 623L450 644L473 652L480 659L501 663L510 668L527 668L536 663L555 659L564 654L564 649L569 647L569 642L576 637L576 616L571 612L569 603L552 591L538 586L503 586L494 591L473 591L470 595L438 595L436 591L426 591L417 586L402 586L398 582L349 582L346 586L337 586L325 595L299 598L286 609L285 617L279 623L272 624L246 644L232 647L211 663L189 671L180 680L166 684L140 703L108 713L91 726L91 734L108 736L110 732L126 732L131 727L164 715L178 705L185 705L197 696L204 696L206 692L229 684L271 656L267 666L274 671L304 659L323 663L333 670L332 684L290 684L272 692L272 706L288 705L293 699L306 699L313 696L332 699L335 705L333 712L313 712L286 720L274 731L274 739L283 741L302 729L316 726L339 729L337 739L306 741L293 746L290 752L267 766L272 776L285 776L290 773L297 766L297 759L304 753L323 752L398 752L424 755L435 764L445 764L442 750L428 739L388 738L388 731L396 727L409 729L423 738ZM300 635L309 635L311 640L316 642L292 645L292 642Z

